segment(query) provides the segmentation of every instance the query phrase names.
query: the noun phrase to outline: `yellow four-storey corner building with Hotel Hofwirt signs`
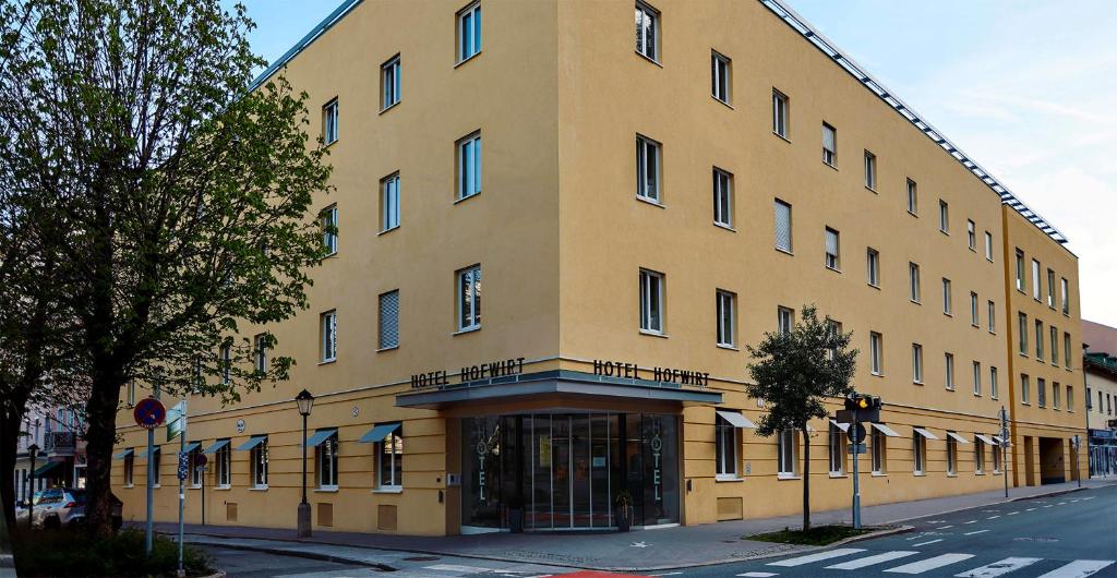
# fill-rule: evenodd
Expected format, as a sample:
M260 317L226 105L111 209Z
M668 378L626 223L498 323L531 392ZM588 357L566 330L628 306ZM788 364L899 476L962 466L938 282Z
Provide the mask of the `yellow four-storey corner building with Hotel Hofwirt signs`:
M266 328L290 382L189 401L188 522L295 527L303 388L316 529L607 529L623 491L643 527L798 512L803 449L753 432L745 345L804 304L886 403L866 504L1000 488L1002 406L1014 484L1077 475L1080 363L1014 349L1018 310L1079 343L1062 235L780 2L634 8L347 1L279 61L322 106L336 253ZM1006 285L1018 248L1066 279L1053 309ZM815 509L849 503L846 426L812 425Z

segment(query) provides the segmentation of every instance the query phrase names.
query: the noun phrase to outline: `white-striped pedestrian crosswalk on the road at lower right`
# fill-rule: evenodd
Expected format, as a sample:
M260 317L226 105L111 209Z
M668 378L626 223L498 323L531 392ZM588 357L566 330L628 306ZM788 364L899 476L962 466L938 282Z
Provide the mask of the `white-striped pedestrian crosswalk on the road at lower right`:
M1038 578L1087 578L1094 576L1101 570L1109 569L1110 571L1117 570L1114 565L1117 560L1072 560L1072 561L1054 561L1048 560L1044 562L1043 558L1027 558L1027 557L1010 557L1002 560L996 560L982 566L975 566L972 568L966 568L968 565L978 562L981 560L972 560L976 555L964 553L964 552L948 552L941 553L936 556L919 558L920 552L915 550L890 550L885 552L869 552L863 548L837 548L834 550L827 550L822 552L813 552L804 556L798 556L794 558L785 558L783 560L776 560L774 562L767 562L765 566L770 566L775 570L776 568L799 568L806 567L812 563L827 562L823 566L827 570L861 570L870 569L873 571L884 571L889 575L908 575L917 576L932 570L946 570L955 571L956 578L996 578L1005 575L1013 575L1023 577L1035 576L1034 574L1029 575L1024 570L1025 568L1038 568L1039 571L1048 569L1046 574L1040 575ZM918 558L918 559L917 559ZM963 563L963 562L967 562ZM1052 563L1058 565L1056 568L1050 568ZM948 568L953 567L953 568ZM1035 569L1033 568L1033 570ZM1019 572L1019 574L1013 574ZM779 576L779 572L744 572L738 574L741 577L760 577ZM850 574L847 574L850 576ZM936 572L936 576L939 574ZM1108 575L1107 575L1108 576ZM1012 577L1009 577L1012 578Z

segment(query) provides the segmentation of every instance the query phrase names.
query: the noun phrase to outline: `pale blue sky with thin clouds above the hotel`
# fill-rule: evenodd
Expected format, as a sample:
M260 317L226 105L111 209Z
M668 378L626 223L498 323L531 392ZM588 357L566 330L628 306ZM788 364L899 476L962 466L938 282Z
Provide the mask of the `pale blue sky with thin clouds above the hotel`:
M1082 317L1117 327L1117 4L785 1L1062 231ZM241 2L269 61L340 4Z

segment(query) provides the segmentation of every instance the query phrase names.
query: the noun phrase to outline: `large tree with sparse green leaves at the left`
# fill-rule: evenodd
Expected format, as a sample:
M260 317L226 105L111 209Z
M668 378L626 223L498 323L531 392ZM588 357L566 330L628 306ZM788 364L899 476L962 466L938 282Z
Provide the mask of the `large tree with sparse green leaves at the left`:
M126 383L227 402L287 377L290 358L257 372L238 336L306 308L330 167L306 95L252 84L242 7L25 0L0 26L0 175L55 235L89 387L87 516L107 533Z

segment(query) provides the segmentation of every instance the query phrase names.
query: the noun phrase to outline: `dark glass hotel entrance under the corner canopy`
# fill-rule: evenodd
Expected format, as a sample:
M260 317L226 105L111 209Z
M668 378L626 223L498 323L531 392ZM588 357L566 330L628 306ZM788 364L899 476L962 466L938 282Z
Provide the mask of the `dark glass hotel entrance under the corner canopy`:
M617 526L628 491L633 526L679 521L678 416L529 413L461 420L461 524L468 531Z

